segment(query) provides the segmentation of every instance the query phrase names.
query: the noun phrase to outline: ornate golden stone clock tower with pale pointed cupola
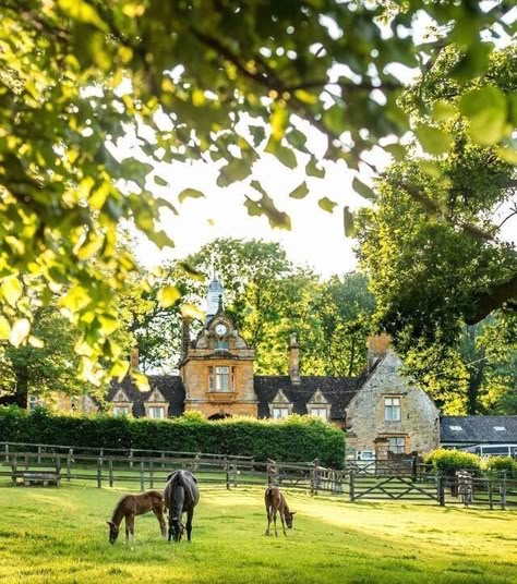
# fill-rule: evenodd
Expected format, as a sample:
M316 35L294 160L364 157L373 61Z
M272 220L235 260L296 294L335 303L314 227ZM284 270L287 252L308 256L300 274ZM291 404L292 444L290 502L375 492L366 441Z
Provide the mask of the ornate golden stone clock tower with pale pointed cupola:
M225 314L224 293L214 276L206 294L205 325L195 341L188 344L180 363L185 411L195 410L208 418L257 417L255 352Z

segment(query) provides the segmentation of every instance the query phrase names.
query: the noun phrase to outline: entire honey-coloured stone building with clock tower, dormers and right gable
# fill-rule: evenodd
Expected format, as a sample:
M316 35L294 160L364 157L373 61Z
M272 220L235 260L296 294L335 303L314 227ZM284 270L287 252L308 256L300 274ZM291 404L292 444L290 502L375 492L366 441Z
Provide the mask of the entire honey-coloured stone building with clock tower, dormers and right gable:
M183 321L180 375L149 376L151 390L144 393L130 378L113 381L108 400L115 415L314 415L342 427L350 455L360 458L425 452L437 446L438 411L424 391L400 375L400 360L389 350L387 337L370 339L369 367L359 377L301 376L296 334L288 348L289 375L254 375L254 349L225 314L223 301L224 288L214 278L206 321L195 339L190 323Z

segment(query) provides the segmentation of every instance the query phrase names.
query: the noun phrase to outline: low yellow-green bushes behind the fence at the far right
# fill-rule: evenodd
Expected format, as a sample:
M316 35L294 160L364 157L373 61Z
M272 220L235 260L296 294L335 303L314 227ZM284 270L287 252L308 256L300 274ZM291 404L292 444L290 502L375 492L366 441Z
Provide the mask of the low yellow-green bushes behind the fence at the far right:
M508 478L517 478L517 461L509 457L490 457L481 459L478 454L460 450L438 449L430 452L425 462L432 464L437 472L454 476L456 471L468 470L477 474L500 475L506 472Z

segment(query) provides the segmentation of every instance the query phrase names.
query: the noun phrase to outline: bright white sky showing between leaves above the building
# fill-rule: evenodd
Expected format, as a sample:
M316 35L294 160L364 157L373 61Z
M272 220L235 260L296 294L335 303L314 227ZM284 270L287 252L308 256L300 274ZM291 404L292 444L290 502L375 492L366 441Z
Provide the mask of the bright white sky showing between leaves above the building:
M486 2L485 2L486 3ZM488 2L488 4L491 4ZM488 7L490 8L490 7ZM414 31L420 38L424 34L430 21L417 19ZM404 83L409 83L414 71L394 63L388 65L392 73ZM133 148L137 138L129 130L125 144L119 145L119 151ZM309 147L315 154L323 154L325 141L315 130L309 131ZM377 148L366 157L381 170L389 159ZM303 161L302 161L303 162ZM304 165L300 165L303 168ZM289 214L291 231L273 230L265 216L250 217L244 207L245 192L240 184L219 188L216 184L217 166L211 162L159 165L156 173L168 182L167 186L157 186L149 174L147 188L170 200L180 211L175 216L166 210L163 214L161 229L176 242L173 250L159 251L153 243L137 236L139 259L148 268L158 266L166 259L182 258L197 251L203 244L216 238L244 238L276 241L284 245L290 259L300 265L309 265L323 277L334 273L344 273L353 269L357 260L353 254L356 242L345 238L342 227L342 207L348 205L351 209L364 206L366 202L351 188L351 181L356 175L342 162L328 163L325 179L308 179L310 194L301 200L291 199L288 194L298 186L304 175L299 170L289 170L269 155L255 163L254 177L262 184L266 193L272 196L277 208ZM363 182L371 182L371 175L362 169L359 174ZM187 187L197 188L206 198L189 198L182 205L178 204L178 194ZM328 197L338 205L334 212L328 214L321 209L317 200ZM253 198L253 196L252 196ZM513 239L515 223L505 224L507 239Z

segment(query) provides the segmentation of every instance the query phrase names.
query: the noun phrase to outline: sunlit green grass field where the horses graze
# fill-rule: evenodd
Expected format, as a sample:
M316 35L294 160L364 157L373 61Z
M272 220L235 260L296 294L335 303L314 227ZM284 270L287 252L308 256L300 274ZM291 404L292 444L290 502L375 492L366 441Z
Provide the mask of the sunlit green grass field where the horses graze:
M0 487L0 582L516 582L517 513L349 503L288 492L286 538L265 537L263 491L202 486L193 543L168 544L149 514L134 549L109 546L121 490Z

